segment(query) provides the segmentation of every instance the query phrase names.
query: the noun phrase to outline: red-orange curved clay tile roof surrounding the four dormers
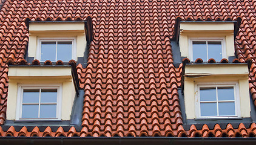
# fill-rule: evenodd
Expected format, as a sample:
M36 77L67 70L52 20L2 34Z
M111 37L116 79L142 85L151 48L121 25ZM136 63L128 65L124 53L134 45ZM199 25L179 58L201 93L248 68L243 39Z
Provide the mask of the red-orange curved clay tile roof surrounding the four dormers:
M0 11L0 124L4 124L7 105L7 60L24 59L29 41L25 26L30 21L76 21L92 16L94 38L90 44L88 66L77 66L80 87L84 89L83 130L59 127L43 132L26 127L0 136L175 136L175 137L251 137L256 125L246 128L231 124L221 129L204 125L198 130L183 129L178 87L182 64L173 65L170 39L175 20L234 21L241 18L235 38L240 62L252 59L249 86L256 106L255 63L256 1L11 1ZM237 61L237 60L236 60ZM212 60L210 61L212 62Z

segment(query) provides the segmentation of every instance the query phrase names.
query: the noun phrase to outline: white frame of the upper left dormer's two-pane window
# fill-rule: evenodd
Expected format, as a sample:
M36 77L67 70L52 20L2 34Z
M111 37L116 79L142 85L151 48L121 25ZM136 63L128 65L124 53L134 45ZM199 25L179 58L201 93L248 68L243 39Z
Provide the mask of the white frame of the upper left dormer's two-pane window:
M40 62L41 61L41 43L42 42L56 42L56 41L62 41L62 42L67 42L67 41L72 41L72 56L71 59L76 60L76 37L39 37L37 42L38 42L38 47L36 48L36 59L38 59ZM56 44L57 45L57 44ZM57 55L57 51L56 51ZM51 60L52 62L56 62L58 60Z

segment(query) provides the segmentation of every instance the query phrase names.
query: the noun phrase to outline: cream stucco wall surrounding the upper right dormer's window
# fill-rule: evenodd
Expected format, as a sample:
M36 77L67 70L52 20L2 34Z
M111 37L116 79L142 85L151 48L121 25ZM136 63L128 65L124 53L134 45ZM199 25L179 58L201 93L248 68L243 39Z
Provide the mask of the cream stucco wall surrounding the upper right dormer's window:
M188 57L191 60L189 43L193 38L223 39L226 53L224 58L235 56L233 22L181 22L179 40L181 57Z

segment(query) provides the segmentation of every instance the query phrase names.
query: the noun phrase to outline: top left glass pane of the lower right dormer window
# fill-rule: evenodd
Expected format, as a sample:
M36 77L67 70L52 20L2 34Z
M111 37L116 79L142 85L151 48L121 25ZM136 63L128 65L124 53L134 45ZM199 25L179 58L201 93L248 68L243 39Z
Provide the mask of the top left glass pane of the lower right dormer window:
M216 88L200 88L200 101L216 101Z

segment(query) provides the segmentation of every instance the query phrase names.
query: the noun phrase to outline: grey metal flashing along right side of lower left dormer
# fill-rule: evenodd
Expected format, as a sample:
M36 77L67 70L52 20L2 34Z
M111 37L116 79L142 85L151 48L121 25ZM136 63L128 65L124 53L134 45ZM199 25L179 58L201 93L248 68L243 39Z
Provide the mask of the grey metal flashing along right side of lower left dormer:
M79 90L79 95L75 97L72 113L71 113L71 125L82 124L82 114L84 106L84 90Z

